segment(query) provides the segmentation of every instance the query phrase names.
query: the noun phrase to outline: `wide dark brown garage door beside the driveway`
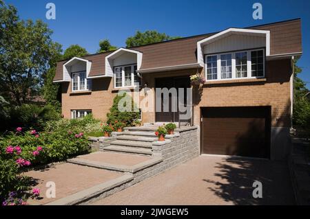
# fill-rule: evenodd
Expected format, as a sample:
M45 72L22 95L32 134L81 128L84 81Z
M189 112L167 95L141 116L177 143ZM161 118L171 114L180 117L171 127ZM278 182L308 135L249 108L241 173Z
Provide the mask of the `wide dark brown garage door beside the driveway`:
M269 158L270 107L202 108L203 154Z

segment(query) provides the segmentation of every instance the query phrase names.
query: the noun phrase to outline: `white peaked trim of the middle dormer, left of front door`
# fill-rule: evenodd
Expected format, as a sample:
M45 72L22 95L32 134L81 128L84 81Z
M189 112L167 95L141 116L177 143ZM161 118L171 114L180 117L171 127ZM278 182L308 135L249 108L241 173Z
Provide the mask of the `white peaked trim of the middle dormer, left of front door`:
M133 54L136 54L136 65L137 70L141 68L142 65L142 56L143 54L140 51L136 51L133 49L125 49L125 48L119 48L116 51L112 52L112 54L105 57L105 75L113 77L113 60L114 58L121 56L121 54L125 52L130 52Z

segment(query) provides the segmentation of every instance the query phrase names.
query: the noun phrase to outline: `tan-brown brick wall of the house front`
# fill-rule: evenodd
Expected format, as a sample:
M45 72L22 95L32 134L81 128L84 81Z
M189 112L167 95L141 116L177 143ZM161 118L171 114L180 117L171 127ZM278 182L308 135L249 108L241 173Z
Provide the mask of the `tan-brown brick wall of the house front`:
M203 89L193 88L194 124L200 124L200 107L210 106L271 106L271 126L290 126L290 79L291 60L270 60L266 62L265 79L245 79L206 83ZM174 76L189 76L197 69L166 71L143 75L143 84L155 92L155 79ZM204 73L204 69L200 69ZM117 90L113 89L112 78L92 80L92 92L72 93L71 83L62 84L62 108L65 118L70 111L91 109L94 117L103 121L113 103ZM141 90L143 98L143 90ZM154 103L155 106L155 103ZM143 123L155 122L155 113L143 113Z

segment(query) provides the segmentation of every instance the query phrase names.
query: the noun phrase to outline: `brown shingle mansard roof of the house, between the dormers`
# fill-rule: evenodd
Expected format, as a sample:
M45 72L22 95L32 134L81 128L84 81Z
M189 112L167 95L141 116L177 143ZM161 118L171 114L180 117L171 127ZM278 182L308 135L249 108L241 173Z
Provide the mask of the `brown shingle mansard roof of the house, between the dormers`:
M300 19L270 23L247 27L254 30L270 30L270 54L288 54L302 51L301 21ZM172 41L153 43L139 47L132 47L143 53L141 69L152 69L156 67L168 67L174 65L186 65L197 62L197 42L216 33L190 36ZM92 61L90 76L105 74L105 56L112 53L92 54L83 56ZM58 62L55 80L62 79L62 65L64 61Z

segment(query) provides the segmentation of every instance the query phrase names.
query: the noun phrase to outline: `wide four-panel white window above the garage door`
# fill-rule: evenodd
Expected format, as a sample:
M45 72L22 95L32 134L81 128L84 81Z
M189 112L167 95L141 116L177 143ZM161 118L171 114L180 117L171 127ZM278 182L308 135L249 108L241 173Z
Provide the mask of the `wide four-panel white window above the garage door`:
M207 80L265 77L265 51L253 49L205 57Z

